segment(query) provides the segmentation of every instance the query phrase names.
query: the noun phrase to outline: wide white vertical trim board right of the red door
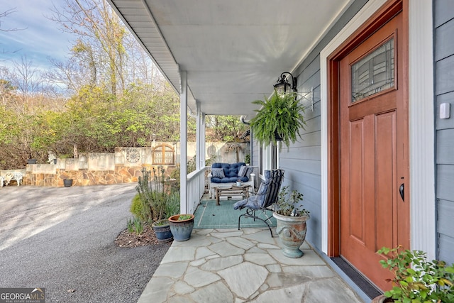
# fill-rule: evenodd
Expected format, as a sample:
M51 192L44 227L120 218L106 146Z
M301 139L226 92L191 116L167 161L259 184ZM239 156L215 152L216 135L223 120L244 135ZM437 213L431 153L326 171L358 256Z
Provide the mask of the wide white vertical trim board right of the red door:
M432 1L409 1L410 248L437 257Z

